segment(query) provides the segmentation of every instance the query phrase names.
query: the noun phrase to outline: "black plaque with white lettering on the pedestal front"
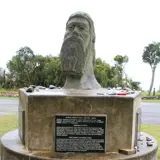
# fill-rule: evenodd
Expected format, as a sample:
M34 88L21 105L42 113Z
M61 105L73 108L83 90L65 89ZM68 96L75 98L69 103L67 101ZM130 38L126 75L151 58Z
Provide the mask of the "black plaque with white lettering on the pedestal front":
M105 116L56 116L56 152L104 152Z

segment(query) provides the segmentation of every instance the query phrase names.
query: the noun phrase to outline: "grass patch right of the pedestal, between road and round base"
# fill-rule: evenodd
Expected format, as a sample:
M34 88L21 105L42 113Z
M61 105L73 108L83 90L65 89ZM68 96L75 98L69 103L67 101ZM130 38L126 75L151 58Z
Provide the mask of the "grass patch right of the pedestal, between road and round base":
M141 131L153 136L160 144L160 126L141 125ZM158 160L160 160L160 147L158 148Z

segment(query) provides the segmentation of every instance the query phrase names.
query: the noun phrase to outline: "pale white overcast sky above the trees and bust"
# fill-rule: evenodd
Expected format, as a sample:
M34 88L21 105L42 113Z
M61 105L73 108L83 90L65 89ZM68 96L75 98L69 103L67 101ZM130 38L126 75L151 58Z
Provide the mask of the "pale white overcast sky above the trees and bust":
M149 43L160 42L159 0L0 0L0 67L24 46L34 54L57 56L68 17L88 13L95 25L96 57L113 65L113 58L127 55L128 77L149 89L151 68L142 53ZM160 64L154 86L160 87Z

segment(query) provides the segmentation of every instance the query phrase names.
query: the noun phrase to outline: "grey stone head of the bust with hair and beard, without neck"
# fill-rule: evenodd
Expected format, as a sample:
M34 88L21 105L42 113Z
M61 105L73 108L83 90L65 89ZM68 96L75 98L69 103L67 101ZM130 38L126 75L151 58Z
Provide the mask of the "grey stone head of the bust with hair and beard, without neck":
M80 78L95 62L94 23L87 13L76 12L66 23L61 48L62 69L66 75ZM90 63L90 61L92 63Z

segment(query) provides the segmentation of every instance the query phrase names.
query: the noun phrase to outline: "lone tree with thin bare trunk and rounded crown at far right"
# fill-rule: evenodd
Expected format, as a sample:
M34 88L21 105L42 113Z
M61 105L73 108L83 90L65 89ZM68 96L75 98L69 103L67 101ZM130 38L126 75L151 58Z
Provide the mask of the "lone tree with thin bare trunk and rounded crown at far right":
M149 87L149 95L150 95L153 88L155 70L158 63L160 63L160 43L153 42L151 44L148 44L148 46L144 48L142 60L144 63L148 63L152 70L151 84Z

